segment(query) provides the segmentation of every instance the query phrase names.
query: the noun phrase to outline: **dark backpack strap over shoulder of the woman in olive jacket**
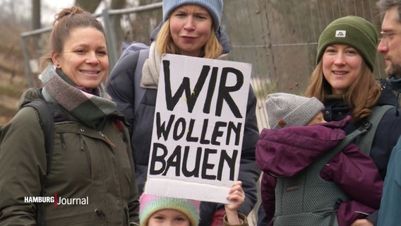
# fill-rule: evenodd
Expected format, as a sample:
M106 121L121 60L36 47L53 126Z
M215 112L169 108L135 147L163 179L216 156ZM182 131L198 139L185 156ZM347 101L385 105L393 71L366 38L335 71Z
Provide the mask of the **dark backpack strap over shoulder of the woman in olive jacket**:
M40 92L40 91L38 91ZM53 113L47 102L41 98L29 102L23 107L33 107L37 110L40 117L40 125L44 133L44 149L46 152L46 174L42 179L42 187L40 189L40 196L44 196L44 185L46 184L46 176L50 172L53 155L53 138L54 138L54 119ZM44 203L37 203L37 225L44 225Z

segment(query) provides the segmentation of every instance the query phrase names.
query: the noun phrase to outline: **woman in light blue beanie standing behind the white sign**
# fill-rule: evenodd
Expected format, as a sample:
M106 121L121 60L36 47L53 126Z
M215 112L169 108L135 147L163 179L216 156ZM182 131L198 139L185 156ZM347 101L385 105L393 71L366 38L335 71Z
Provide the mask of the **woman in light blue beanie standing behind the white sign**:
M107 90L131 124L132 151L140 190L148 172L161 56L168 53L219 59L227 54L229 44L220 31L222 9L222 0L163 1L163 23L152 32L150 48L124 55L110 74ZM255 164L258 139L255 109L256 97L250 88L238 178L243 182L246 194L239 212L245 215L256 204L256 182L260 175ZM200 205L200 225L222 225L223 215L222 204L203 202Z

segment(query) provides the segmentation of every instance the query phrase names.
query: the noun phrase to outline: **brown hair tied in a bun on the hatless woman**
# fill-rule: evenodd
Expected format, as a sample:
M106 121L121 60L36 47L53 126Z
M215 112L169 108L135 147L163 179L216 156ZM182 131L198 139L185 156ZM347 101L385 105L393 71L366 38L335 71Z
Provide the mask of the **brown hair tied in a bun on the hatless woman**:
M40 70L42 71L47 64L52 63L52 52L63 52L64 43L70 37L71 30L75 28L96 28L103 33L102 23L84 11L79 6L63 8L54 16L53 29L49 37L49 51L40 59Z

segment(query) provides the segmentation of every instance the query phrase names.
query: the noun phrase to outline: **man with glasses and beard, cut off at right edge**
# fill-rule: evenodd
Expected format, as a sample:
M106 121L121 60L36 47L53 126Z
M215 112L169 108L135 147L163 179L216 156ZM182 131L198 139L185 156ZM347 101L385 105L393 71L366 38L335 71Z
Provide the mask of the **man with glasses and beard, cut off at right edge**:
M378 52L385 59L385 73L393 90L401 93L401 1L380 0L381 41ZM401 116L400 116L401 117ZM401 138L393 148L388 160L384 180L379 226L400 225L401 222Z

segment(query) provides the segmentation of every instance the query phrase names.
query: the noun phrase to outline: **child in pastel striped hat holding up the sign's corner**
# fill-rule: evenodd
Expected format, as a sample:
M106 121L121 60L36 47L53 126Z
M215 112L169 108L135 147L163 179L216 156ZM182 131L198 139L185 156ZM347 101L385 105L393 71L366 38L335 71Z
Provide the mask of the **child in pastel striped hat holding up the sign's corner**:
M227 196L234 203L225 204L225 225L248 225L246 215L237 210L244 203L245 194L241 182L234 182ZM139 198L140 226L179 225L197 226L200 201L154 196L143 193Z

